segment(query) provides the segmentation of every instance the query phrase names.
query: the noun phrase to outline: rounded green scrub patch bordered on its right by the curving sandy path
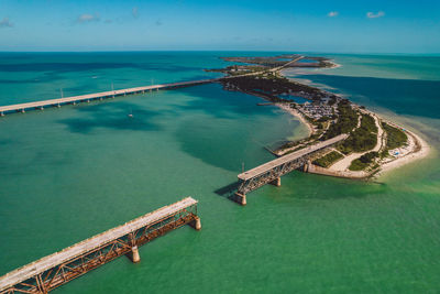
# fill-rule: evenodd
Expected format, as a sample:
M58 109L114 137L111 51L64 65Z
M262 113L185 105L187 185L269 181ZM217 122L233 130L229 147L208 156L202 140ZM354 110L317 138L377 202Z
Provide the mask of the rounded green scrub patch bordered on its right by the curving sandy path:
M377 143L377 126L369 115L362 115L361 127L350 133L350 137L338 145L344 154L372 150Z

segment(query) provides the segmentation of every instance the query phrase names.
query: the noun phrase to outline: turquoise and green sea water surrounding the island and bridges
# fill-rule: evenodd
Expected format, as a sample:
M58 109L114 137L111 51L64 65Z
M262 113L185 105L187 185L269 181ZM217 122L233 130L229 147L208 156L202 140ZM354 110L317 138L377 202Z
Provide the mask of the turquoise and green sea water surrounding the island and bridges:
M219 76L252 52L0 53L0 105ZM440 57L334 55L285 74L420 134L426 160L373 183L293 172L228 199L264 146L305 126L260 98L204 85L0 119L0 275L185 196L175 230L56 293L438 293ZM322 56L321 55L321 56ZM113 86L112 86L113 85ZM133 113L133 118L128 115Z

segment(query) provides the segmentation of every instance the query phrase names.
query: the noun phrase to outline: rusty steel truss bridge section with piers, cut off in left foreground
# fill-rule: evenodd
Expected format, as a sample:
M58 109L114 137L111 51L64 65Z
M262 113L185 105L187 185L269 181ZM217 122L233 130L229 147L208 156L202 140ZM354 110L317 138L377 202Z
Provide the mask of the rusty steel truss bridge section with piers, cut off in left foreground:
M47 293L130 252L133 254L133 262L139 262L138 246L191 221L196 229L201 228L197 217L197 203L191 197L184 198L7 273L0 276L0 293ZM112 246L110 250L109 244ZM103 250L106 247L107 250Z

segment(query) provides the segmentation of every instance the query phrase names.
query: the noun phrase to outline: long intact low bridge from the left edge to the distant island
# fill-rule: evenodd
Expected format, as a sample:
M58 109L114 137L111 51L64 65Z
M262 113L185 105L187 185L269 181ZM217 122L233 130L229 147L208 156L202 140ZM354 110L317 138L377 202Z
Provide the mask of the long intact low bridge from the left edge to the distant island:
M299 57L286 63L283 66L272 68L270 70L271 72L280 70L284 67L288 66L289 64L295 63L301 58L304 58L304 56L299 56ZM0 116L4 116L9 112L25 112L25 110L30 110L30 109L43 110L45 107L61 107L62 105L68 105L68 104L85 102L85 101L105 99L105 98L114 98L116 96L127 96L127 95L132 95L132 94L152 91L152 90L170 89L170 88L188 87L188 86L195 86L195 85L201 85L201 84L210 84L210 83L219 81L221 79L253 76L253 75L258 75L262 73L264 73L264 72L256 72L256 73L243 74L243 75L238 75L238 76L228 76L228 77L211 78L211 79L200 79L200 80L180 81L180 83L172 83L172 84L163 84L163 85L143 86L143 87L135 87L135 88L120 89L120 90L101 91L101 92L95 92L95 94L72 96L72 97L58 98L58 99L48 99L48 100L41 100L41 101L26 102L26 104L0 106Z

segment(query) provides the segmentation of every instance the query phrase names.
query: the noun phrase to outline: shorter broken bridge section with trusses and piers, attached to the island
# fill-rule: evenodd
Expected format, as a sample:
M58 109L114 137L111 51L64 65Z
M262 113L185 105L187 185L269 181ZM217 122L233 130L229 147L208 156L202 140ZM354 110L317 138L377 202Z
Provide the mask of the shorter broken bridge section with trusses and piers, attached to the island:
M235 193L237 200L245 205L246 193L257 189L265 184L280 185L280 176L285 175L301 165L306 164L308 159L316 152L345 140L348 134L340 134L327 141L319 142L308 148L295 151L282 157L275 159L250 171L238 175L239 189Z

